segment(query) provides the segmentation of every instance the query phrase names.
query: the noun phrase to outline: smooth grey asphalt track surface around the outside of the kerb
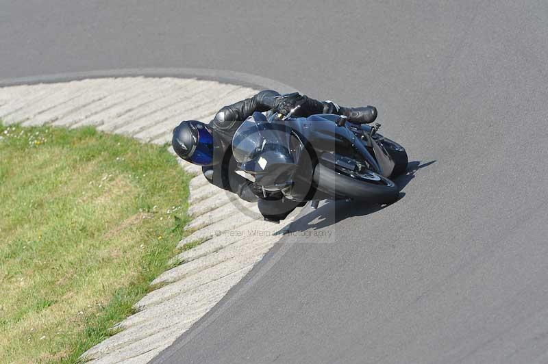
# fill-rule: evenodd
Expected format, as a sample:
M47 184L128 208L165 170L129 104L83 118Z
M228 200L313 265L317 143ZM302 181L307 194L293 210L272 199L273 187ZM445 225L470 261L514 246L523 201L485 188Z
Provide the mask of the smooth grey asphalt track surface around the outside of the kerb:
M546 363L548 4L1 1L0 78L195 67L377 105L405 196L327 204L162 363Z

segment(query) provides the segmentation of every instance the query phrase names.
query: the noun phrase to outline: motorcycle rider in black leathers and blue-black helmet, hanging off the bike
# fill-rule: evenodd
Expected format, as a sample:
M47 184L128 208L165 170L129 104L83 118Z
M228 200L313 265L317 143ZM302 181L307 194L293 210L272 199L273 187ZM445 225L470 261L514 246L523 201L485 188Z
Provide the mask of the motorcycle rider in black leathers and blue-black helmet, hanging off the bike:
M202 166L202 172L210 183L238 194L243 200L257 201L264 220L279 222L301 203L282 196L265 196L261 187L237 174L236 161L232 156L232 137L253 112L274 109L287 115L297 106L300 107L293 114L295 117L337 114L360 123L373 122L377 117L377 109L373 106L342 107L332 101L317 101L297 92L281 95L273 90L264 90L249 99L221 108L209 125L197 120L181 122L173 129L173 150L182 159Z

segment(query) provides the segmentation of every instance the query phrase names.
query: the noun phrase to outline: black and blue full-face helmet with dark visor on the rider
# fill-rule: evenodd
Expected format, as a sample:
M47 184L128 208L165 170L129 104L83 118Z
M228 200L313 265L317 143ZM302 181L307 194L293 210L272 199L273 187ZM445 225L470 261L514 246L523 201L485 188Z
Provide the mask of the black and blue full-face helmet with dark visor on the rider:
M181 122L173 129L171 145L179 157L192 164L210 166L213 161L213 135L203 122Z

